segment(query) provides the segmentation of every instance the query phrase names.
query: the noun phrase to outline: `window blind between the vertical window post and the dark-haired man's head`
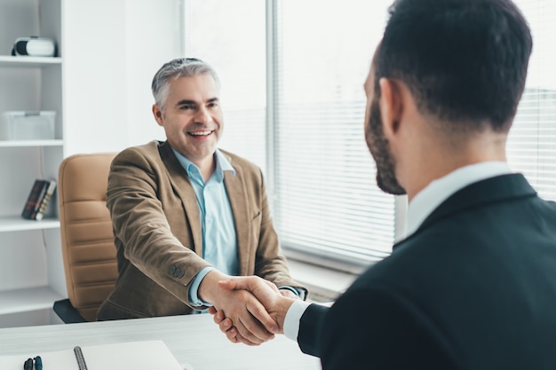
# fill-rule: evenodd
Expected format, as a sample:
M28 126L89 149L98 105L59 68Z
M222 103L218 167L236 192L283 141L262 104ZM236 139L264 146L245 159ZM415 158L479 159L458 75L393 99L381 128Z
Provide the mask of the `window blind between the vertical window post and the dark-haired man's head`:
M368 264L386 256L394 200L376 185L363 83L390 2L276 2L274 215L282 245Z

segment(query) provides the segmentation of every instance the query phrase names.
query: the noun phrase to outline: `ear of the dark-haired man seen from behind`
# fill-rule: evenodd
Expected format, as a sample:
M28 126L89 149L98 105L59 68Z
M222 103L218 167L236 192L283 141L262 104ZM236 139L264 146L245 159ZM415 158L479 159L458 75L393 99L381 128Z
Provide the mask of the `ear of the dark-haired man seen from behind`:
M395 134L399 129L403 112L403 97L400 85L391 79L382 77L378 80L380 86L380 114L386 138Z

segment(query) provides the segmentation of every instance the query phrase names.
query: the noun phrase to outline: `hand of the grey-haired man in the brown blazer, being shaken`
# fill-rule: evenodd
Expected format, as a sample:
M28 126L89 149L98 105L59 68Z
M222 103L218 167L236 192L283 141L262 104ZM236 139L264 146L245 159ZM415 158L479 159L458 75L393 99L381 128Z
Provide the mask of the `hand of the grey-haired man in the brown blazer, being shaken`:
M209 272L199 287L199 298L214 305L210 312L218 311L223 317L234 323L236 332L234 337L237 336L241 342L258 345L273 339L274 333L278 332L278 326L266 312L264 305L258 302L258 298L247 289L235 288L235 286L227 287L225 284L219 283L219 281L227 279L231 279L231 277L217 270ZM272 294L275 294L274 291Z

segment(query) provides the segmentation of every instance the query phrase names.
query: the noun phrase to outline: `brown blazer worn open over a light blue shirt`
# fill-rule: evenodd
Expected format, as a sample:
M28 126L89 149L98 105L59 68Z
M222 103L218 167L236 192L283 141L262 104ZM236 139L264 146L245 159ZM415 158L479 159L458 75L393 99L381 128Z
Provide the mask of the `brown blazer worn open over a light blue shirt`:
M268 209L260 169L222 151L235 169L225 171L237 234L241 275L256 274L278 287L301 287L290 278ZM110 168L107 207L119 276L98 319L191 313L188 290L203 260L195 191L167 142L123 150Z

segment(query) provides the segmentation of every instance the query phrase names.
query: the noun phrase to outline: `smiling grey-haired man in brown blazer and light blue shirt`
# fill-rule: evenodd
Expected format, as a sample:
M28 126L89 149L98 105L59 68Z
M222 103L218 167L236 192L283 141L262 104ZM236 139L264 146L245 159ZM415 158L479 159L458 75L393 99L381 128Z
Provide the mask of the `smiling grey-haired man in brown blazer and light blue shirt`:
M261 170L217 147L224 122L210 65L171 60L155 74L152 90L166 141L125 149L112 163L107 207L119 277L98 319L187 314L214 305L237 320L247 341L262 342L268 333L250 313L264 312L260 303L216 283L255 274L281 287L282 295L306 295L282 256Z

